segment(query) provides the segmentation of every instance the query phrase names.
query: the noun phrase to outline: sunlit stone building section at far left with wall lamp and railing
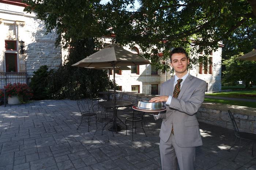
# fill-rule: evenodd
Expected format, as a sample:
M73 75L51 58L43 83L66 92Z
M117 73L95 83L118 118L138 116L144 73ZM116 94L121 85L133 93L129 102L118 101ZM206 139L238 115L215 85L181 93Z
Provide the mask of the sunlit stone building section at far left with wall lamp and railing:
M8 82L26 83L42 65L51 69L62 63L56 33L45 35L44 23L23 12L25 6L21 0L0 1L0 88Z

